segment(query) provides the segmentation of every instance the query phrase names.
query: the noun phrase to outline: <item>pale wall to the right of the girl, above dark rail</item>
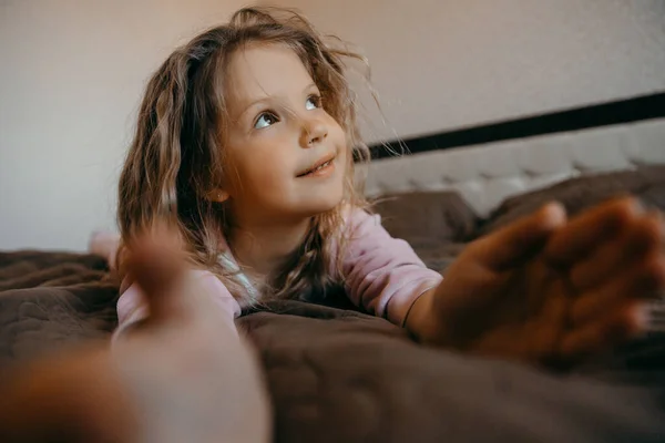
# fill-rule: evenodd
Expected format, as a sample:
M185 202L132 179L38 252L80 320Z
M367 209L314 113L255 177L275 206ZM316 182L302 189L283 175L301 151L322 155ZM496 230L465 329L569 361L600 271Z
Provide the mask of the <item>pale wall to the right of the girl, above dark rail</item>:
M663 0L280 4L364 50L400 136L665 91ZM392 138L370 115L366 137Z

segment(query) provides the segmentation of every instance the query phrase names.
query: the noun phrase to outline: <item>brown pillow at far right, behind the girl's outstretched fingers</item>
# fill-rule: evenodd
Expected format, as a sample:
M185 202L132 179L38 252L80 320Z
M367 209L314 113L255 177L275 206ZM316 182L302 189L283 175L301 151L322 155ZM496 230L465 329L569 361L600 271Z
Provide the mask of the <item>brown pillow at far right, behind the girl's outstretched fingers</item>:
M627 194L640 198L647 206L665 209L665 165L584 175L511 197L482 223L478 236L531 214L548 202L557 200L565 206L569 215L575 215L603 200Z

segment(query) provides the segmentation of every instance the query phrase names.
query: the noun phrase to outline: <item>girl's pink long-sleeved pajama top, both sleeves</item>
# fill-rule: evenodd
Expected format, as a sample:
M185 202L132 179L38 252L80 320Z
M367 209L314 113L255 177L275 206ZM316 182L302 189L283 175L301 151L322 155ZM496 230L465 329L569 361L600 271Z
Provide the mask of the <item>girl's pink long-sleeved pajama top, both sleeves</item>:
M402 324L416 299L438 286L441 275L428 269L407 241L392 238L381 226L380 216L354 209L346 217L346 227L351 229L342 257L345 278L341 282L347 296L369 313ZM238 302L213 274L205 270L192 272L215 297L223 317L219 320L235 331L234 319L241 313ZM130 286L117 301L115 336L147 316L141 289L136 285Z

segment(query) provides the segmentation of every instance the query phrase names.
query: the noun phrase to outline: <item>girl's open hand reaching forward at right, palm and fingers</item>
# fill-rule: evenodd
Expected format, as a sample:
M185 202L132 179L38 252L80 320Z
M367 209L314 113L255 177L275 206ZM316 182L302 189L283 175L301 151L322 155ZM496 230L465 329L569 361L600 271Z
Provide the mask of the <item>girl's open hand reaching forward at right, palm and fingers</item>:
M423 342L541 363L571 362L644 327L665 287L658 219L632 199L566 224L555 204L471 244L407 327Z

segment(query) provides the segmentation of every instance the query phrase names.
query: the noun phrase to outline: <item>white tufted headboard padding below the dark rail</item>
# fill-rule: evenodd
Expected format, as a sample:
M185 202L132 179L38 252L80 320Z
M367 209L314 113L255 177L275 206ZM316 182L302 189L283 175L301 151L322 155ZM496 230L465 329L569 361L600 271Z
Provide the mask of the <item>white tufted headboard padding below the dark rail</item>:
M504 198L581 174L665 163L665 119L375 159L366 194L458 190L488 215Z

